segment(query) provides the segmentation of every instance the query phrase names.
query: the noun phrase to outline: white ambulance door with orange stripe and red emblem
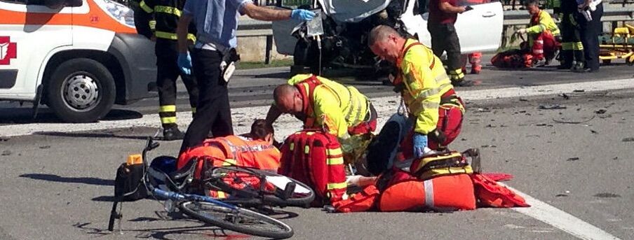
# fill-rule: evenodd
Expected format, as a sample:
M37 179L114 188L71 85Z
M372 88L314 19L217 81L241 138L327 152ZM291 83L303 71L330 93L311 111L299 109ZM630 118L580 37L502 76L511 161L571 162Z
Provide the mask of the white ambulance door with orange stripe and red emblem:
M0 0L0 99L33 100L46 61L72 45L72 7L59 0Z

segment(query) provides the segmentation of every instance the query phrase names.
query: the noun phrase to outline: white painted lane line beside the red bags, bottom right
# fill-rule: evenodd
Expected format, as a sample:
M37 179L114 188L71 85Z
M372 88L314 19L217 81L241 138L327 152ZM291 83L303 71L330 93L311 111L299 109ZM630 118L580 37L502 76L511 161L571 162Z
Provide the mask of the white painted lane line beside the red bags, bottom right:
M513 208L515 211L540 220L553 227L557 227L558 229L572 234L574 237L579 239L619 239L618 237L614 237L612 234L609 234L590 223L586 223L584 220L566 213L565 211L546 204L545 202L541 202L539 199L511 188L504 183L501 184L506 186L506 188L515 191L516 194L524 197L527 204L530 204L530 207L528 208Z

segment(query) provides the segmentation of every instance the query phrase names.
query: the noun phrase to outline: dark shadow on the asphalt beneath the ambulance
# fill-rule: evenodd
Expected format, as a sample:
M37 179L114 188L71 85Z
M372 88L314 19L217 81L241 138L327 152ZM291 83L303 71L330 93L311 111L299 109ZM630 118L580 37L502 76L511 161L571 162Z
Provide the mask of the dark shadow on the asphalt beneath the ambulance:
M130 120L143 118L143 114L137 111L113 109L102 120ZM25 123L65 123L48 108L39 111L37 118L33 119L32 108L0 108L0 124L25 124Z

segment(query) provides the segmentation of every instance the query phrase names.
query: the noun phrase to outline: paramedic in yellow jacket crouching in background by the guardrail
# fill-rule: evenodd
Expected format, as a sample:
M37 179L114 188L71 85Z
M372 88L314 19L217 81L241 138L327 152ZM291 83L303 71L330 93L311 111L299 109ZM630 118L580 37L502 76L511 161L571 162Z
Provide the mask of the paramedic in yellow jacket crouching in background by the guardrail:
M560 46L561 34L553 17L545 10L539 9L537 0L525 1L526 10L531 15L530 27L520 29L520 34L528 34L529 45L534 62L544 61L548 64L555 57Z

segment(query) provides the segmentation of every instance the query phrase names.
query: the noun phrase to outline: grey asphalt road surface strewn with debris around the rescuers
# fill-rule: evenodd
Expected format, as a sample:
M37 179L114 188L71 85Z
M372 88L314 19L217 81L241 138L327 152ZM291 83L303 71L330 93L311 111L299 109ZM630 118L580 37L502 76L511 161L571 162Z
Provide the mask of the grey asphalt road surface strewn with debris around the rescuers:
M486 80L475 88L632 78L633 72L628 66L606 66L595 74L490 70L478 76ZM258 74L267 77L251 78ZM271 87L283 83L284 74L281 69L241 71L231 92L232 97L246 100L232 104L269 101L263 99ZM363 92L392 94L376 83L362 83L358 86ZM634 239L633 99L634 90L624 89L468 101L464 129L453 148L480 148L485 171L513 174L515 178L506 184L540 201L529 209L325 213L285 208L286 213L276 217L293 227L295 239L584 239L579 232L586 225L573 225L576 220L605 231L596 239ZM111 120L153 113L149 109L155 108L151 100L137 104L119 108ZM20 123L29 122L18 114L22 110L2 111L1 118L8 119L5 126L31 126ZM17 115L8 117L8 113ZM37 121L55 122L53 117ZM248 238L222 234L180 213L165 213L161 204L151 200L124 204L123 234L107 232L116 167L128 154L139 152L142 139L156 128L73 130L0 137L0 239ZM151 155L175 155L180 147L177 141L161 144ZM574 217L540 212L542 204Z

